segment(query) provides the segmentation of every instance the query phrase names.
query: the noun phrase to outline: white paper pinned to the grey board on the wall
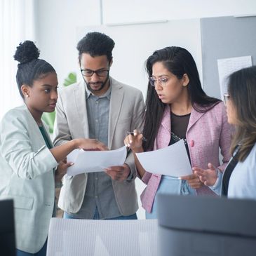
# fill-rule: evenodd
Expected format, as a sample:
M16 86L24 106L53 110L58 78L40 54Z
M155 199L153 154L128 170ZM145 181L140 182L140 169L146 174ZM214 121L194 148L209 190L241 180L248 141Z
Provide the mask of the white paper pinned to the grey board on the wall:
M252 56L219 59L217 60L217 66L220 81L220 93L223 100L224 93L227 93L228 76L239 69L252 66Z

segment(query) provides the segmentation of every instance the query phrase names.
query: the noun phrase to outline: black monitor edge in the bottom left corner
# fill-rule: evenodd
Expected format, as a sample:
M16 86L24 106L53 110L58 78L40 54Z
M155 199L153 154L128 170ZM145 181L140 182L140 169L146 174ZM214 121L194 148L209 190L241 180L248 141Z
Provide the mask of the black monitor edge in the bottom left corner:
M16 255L13 200L0 200L0 255Z

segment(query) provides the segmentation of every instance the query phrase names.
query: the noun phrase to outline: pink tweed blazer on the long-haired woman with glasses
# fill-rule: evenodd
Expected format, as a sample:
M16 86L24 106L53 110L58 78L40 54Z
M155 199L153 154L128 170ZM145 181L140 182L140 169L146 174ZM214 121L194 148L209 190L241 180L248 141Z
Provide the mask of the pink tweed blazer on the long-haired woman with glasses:
M154 142L154 149L168 147L170 142L170 107L166 107L163 119ZM191 166L207 168L207 164L224 170L231 155L229 148L231 144L231 125L227 123L227 114L223 102L218 103L208 112L200 113L192 109L187 128L186 138L189 146ZM219 148L223 156L223 164L220 165ZM151 213L154 197L159 187L161 175L145 173L142 181L147 187L140 198L142 207ZM214 194L208 187L197 189L197 194Z

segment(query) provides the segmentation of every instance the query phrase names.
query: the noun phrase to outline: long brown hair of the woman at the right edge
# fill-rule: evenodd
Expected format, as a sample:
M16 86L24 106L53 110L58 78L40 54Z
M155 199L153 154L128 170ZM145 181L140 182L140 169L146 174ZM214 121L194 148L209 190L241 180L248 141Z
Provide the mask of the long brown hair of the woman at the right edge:
M241 144L236 157L238 161L244 161L256 142L256 66L231 74L228 93L238 121L231 143L231 153Z

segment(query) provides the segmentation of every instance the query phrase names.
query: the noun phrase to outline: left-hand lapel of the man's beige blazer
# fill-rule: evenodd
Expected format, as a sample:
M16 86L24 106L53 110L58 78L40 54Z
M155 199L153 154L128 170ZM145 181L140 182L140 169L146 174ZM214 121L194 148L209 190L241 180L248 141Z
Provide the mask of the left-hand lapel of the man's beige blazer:
M76 115L77 128L83 130L84 137L89 137L89 126L88 126L88 117L87 117L87 108L86 108L86 88L84 82L80 82L76 89L74 90L73 106L76 106ZM71 104L71 103L70 103Z

